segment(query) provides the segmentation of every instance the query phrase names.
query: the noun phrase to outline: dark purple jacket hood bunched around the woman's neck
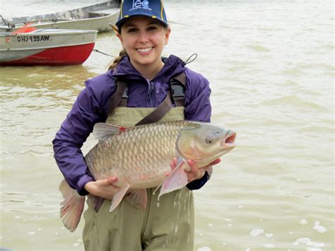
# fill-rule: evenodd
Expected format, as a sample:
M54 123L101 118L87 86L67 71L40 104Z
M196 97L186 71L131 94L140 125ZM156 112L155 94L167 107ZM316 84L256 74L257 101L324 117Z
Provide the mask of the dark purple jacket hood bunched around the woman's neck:
M168 58L162 58L165 63L163 68L153 78L160 78L162 81L169 81L172 76L181 74L185 69L185 63L179 57L170 55ZM113 78L119 78L124 81L127 80L145 80L145 78L137 71L129 61L129 57L124 57L117 67L111 70L108 74L111 74Z

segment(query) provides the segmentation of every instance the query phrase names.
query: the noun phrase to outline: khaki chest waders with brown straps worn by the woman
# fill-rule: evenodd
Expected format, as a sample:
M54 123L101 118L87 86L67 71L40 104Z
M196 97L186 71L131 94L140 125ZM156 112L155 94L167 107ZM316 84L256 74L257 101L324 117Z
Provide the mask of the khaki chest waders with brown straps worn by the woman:
M127 85L117 81L107 123L129 127L157 121L184 119L185 75L171 81L171 90L157 108L127 107ZM175 107L172 107L171 98ZM99 211L91 206L84 213L83 243L90 251L193 250L194 200L187 187L164 194L158 201L155 188L146 189L148 204L139 209L123 199L110 212L105 199Z

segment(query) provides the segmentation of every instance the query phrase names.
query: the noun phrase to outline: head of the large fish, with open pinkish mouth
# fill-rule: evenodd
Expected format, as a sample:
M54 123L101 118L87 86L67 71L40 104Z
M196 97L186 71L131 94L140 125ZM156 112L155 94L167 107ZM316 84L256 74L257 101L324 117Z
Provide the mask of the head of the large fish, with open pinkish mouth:
M195 122L184 127L177 139L177 151L185 159L204 166L232 150L236 133L213 124Z

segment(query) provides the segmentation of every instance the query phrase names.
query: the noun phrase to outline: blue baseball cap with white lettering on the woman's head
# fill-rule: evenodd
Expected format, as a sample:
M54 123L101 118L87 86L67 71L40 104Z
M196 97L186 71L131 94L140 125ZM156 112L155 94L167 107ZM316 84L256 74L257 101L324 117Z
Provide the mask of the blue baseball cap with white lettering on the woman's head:
M131 16L148 16L167 25L163 2L161 0L123 0L120 7L119 20L115 25L120 29Z

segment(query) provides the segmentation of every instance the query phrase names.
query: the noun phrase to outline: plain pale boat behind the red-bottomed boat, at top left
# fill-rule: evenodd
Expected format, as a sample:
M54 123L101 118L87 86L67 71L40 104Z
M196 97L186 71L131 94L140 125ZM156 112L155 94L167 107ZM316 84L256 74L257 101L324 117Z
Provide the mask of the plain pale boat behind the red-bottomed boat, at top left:
M0 18L0 32L12 32L27 25L37 29L78 29L98 30L107 32L112 30L109 23L116 23L119 17L119 4L117 1L106 1L101 4L76 8L71 11L61 11L38 16L25 16L6 20Z

